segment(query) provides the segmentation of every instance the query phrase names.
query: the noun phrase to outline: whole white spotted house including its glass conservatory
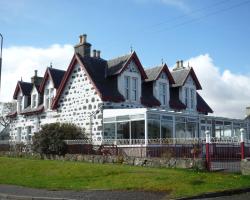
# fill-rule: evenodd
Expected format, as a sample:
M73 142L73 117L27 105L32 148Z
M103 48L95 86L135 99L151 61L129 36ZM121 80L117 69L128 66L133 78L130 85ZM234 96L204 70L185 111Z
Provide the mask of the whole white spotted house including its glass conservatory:
M133 145L171 137L237 136L248 121L208 116L213 110L200 96L192 67L178 61L144 69L136 52L106 60L81 35L66 71L47 68L31 82L19 81L17 110L10 113L11 140L27 142L43 124L69 122L89 138ZM249 133L248 133L249 135Z

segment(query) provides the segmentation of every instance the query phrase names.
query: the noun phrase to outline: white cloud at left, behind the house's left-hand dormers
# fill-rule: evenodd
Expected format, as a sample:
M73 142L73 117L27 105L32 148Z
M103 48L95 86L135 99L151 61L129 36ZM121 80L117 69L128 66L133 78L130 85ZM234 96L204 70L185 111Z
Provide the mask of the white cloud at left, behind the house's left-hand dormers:
M10 47L3 49L2 81L0 101L11 101L18 80L30 82L34 70L43 76L47 66L66 70L71 57L71 45L52 45L48 48Z

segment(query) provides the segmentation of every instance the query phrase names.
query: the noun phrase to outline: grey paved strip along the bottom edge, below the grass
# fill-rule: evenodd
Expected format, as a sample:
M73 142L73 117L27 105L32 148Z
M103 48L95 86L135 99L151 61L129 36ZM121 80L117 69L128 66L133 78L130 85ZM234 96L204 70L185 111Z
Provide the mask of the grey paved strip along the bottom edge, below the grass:
M16 196L49 197L49 198L69 198L82 200L159 200L167 199L166 193L161 192L141 192L141 191L110 191L110 190L85 190L71 191L60 190L51 191L44 189L32 189L21 186L0 185L0 193Z

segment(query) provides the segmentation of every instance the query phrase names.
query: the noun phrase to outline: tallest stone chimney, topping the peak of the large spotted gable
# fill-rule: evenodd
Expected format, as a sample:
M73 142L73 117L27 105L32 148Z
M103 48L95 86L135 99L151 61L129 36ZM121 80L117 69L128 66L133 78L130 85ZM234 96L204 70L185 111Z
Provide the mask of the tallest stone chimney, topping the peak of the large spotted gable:
M87 42L87 35L83 34L79 36L79 44L75 45L75 52L81 56L90 56L91 44Z

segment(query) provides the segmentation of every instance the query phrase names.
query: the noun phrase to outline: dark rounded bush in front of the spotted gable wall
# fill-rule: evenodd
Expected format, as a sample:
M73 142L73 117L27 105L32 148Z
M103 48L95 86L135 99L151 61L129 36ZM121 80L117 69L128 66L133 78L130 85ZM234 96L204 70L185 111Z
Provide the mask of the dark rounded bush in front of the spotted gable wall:
M33 140L33 150L41 155L64 156L67 145L64 140L84 139L84 131L74 124L52 123L42 126Z

